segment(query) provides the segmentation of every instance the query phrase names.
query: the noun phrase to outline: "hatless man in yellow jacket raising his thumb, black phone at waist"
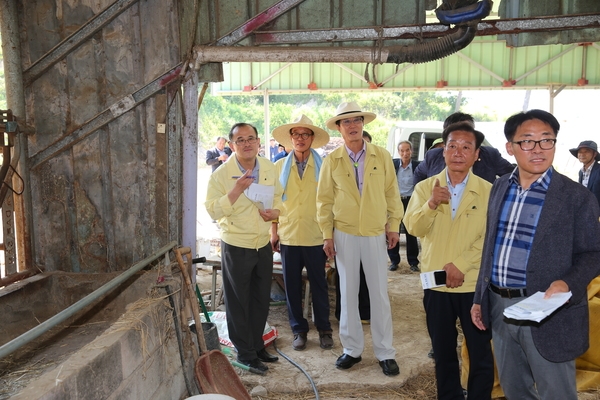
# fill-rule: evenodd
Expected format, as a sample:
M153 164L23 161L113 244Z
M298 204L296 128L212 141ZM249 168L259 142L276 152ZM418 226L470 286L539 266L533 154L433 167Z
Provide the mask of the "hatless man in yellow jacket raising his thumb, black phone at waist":
M491 184L474 175L483 133L468 123L447 127L446 168L417 184L404 225L421 238L421 271L445 272L445 284L425 289L423 305L435 358L438 399L463 398L456 354L456 319L469 349L469 399L490 399L494 360L489 331L473 325L470 310L479 274Z

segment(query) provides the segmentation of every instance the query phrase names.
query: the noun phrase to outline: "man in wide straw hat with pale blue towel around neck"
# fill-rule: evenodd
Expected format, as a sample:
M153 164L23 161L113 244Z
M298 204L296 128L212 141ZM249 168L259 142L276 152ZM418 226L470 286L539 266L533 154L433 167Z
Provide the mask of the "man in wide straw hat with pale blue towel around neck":
M294 334L292 347L306 348L309 325L302 315L302 269L306 267L319 345L330 349L333 338L325 277L327 256L317 224L317 183L323 160L314 150L329 143L329 135L301 115L291 124L275 128L273 137L292 149L275 164L284 190L283 215L271 227L271 244L281 251L288 318Z

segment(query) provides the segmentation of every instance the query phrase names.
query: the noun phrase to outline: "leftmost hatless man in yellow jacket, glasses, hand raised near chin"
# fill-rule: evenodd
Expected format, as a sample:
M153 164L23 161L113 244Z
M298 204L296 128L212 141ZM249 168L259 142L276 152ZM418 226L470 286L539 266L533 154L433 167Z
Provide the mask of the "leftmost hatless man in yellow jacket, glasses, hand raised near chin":
M258 157L260 139L247 123L233 125L229 141L235 153L211 176L206 210L221 227L221 265L229 338L242 364L266 371L277 361L265 349L262 334L269 314L273 250L271 221L279 217L282 188L275 165ZM256 185L273 188L273 205L250 199ZM252 186L252 187L251 187ZM252 197L252 196L251 196Z

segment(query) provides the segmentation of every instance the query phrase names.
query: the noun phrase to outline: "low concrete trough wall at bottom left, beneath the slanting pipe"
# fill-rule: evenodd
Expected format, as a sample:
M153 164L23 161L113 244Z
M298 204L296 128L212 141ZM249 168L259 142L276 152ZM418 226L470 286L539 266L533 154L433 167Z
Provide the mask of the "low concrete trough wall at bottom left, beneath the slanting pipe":
M28 383L26 389L12 398L185 398L187 390L168 300L145 309L135 324L130 322L131 312L120 319L125 322L113 325L112 332L107 331L53 370ZM186 353L186 358L188 376L195 384L191 353Z

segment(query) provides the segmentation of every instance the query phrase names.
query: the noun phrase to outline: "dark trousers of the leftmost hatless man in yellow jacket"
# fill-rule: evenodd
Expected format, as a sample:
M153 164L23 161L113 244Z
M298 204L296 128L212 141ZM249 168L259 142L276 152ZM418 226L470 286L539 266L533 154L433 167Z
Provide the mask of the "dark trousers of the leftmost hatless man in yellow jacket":
M265 347L262 335L269 315L273 250L256 250L221 241L221 271L229 339L240 360L251 361Z

